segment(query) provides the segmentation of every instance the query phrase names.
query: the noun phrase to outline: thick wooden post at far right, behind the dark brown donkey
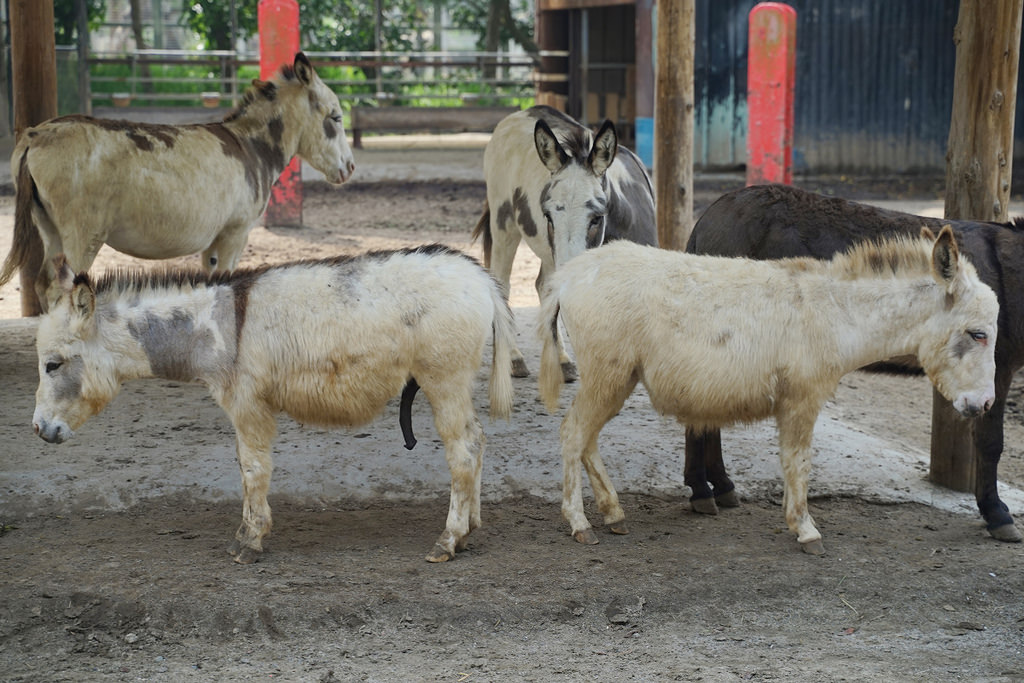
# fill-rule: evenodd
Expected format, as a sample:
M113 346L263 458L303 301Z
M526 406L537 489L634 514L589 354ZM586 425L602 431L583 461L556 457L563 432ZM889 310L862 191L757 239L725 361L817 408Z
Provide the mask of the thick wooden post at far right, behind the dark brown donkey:
M1024 0L961 1L953 31L956 70L946 152L946 218L1008 219L1022 5ZM974 490L978 458L973 425L933 391L932 481Z

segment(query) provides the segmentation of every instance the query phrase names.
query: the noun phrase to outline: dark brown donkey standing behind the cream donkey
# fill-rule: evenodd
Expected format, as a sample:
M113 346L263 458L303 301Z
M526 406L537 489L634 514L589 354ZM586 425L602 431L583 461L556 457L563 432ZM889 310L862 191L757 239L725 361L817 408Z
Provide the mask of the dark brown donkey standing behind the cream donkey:
M988 532L999 541L1019 543L1021 533L999 499L997 469L1007 395L1014 375L1024 367L1024 219L1012 223L940 220L786 185L755 185L723 195L712 204L693 227L686 251L757 259L830 258L864 240L915 234L922 225L939 229L946 223L952 225L959 249L978 276L999 299L995 402L974 421L975 498ZM718 512L716 501L727 507L738 503L722 461L721 443L717 430L686 431L685 476L697 512Z

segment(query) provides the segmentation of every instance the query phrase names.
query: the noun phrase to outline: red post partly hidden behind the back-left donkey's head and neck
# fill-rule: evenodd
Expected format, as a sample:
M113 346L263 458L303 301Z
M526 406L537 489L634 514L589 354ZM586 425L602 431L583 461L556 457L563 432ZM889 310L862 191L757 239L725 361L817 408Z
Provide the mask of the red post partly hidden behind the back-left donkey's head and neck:
M259 0L259 77L268 80L295 61L299 51L299 3L296 0ZM302 160L293 157L270 188L263 224L302 226Z

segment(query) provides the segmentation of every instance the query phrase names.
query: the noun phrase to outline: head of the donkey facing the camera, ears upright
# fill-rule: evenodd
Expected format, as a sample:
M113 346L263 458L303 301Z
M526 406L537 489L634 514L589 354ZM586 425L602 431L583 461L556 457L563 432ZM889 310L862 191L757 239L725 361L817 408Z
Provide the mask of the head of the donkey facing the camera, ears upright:
M534 143L551 180L541 195L541 208L548 223L548 245L555 266L604 242L608 214L605 171L615 160L618 138L610 121L589 143L587 136L565 141L563 146L551 127L539 119Z

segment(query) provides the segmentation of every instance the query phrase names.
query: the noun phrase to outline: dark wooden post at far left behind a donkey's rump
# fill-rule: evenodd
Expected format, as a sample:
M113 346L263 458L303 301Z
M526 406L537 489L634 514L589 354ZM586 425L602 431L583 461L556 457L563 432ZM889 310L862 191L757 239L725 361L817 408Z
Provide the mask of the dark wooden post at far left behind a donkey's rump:
M10 0L11 83L14 91L14 136L57 115L57 61L53 39L53 3ZM17 169L11 169L17 173ZM43 243L35 240L22 266L22 314L42 312L36 275L43 264Z

